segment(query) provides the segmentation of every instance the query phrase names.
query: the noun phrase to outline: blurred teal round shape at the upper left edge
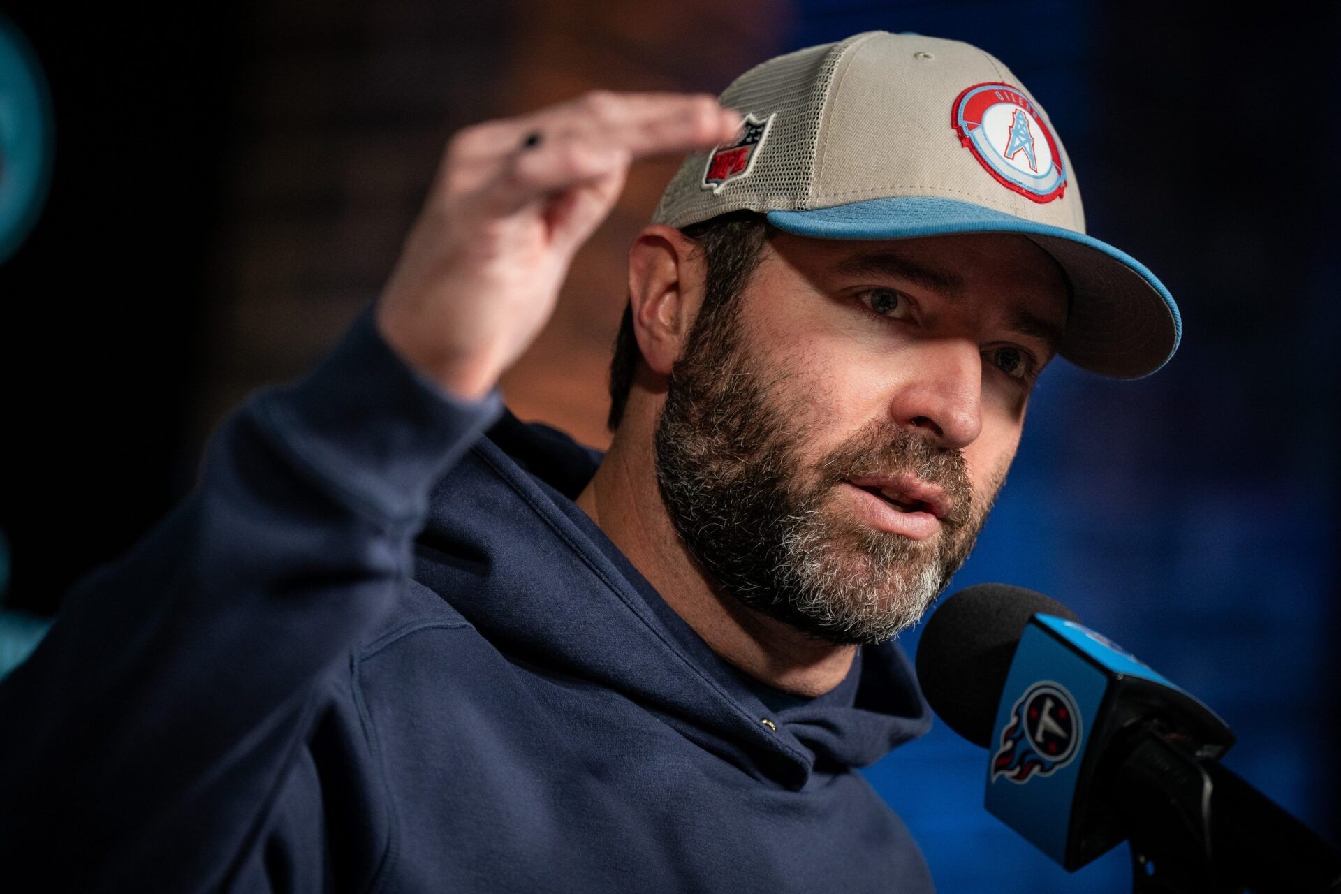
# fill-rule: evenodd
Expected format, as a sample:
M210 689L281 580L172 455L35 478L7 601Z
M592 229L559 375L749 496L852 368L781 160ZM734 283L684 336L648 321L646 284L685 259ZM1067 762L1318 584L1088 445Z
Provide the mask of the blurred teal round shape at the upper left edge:
M28 42L0 16L0 263L23 244L47 198L51 95Z

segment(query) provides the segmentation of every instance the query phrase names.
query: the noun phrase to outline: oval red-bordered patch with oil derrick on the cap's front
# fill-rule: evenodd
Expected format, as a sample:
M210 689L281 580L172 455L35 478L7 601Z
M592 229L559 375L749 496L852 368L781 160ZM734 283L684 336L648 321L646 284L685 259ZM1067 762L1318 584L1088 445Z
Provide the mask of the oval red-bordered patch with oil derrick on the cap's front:
M975 84L955 99L951 121L960 145L1002 186L1035 202L1050 202L1066 192L1053 131L1018 87Z

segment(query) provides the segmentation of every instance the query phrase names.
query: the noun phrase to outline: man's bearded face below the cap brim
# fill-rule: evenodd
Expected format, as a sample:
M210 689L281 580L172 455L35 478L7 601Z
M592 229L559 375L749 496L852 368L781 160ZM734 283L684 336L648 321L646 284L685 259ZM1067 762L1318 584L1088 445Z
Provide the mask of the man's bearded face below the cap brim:
M775 236L670 373L657 484L691 554L822 639L915 623L1006 478L1066 300L1019 235Z

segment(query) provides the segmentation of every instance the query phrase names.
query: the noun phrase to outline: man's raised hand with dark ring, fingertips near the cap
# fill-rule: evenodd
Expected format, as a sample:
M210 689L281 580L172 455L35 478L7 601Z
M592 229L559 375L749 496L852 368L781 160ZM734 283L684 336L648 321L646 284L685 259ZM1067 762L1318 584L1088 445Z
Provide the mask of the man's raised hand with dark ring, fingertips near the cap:
M452 393L483 397L550 319L629 165L740 126L707 94L594 91L457 131L378 298L382 336Z

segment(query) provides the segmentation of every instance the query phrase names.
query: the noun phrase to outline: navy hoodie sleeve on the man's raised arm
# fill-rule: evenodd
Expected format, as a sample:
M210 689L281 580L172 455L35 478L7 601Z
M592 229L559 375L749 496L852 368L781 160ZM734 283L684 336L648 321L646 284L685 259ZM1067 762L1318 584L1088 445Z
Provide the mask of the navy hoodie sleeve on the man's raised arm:
M369 306L228 416L186 497L0 684L0 887L225 882L409 575L434 483L502 413L405 363Z

